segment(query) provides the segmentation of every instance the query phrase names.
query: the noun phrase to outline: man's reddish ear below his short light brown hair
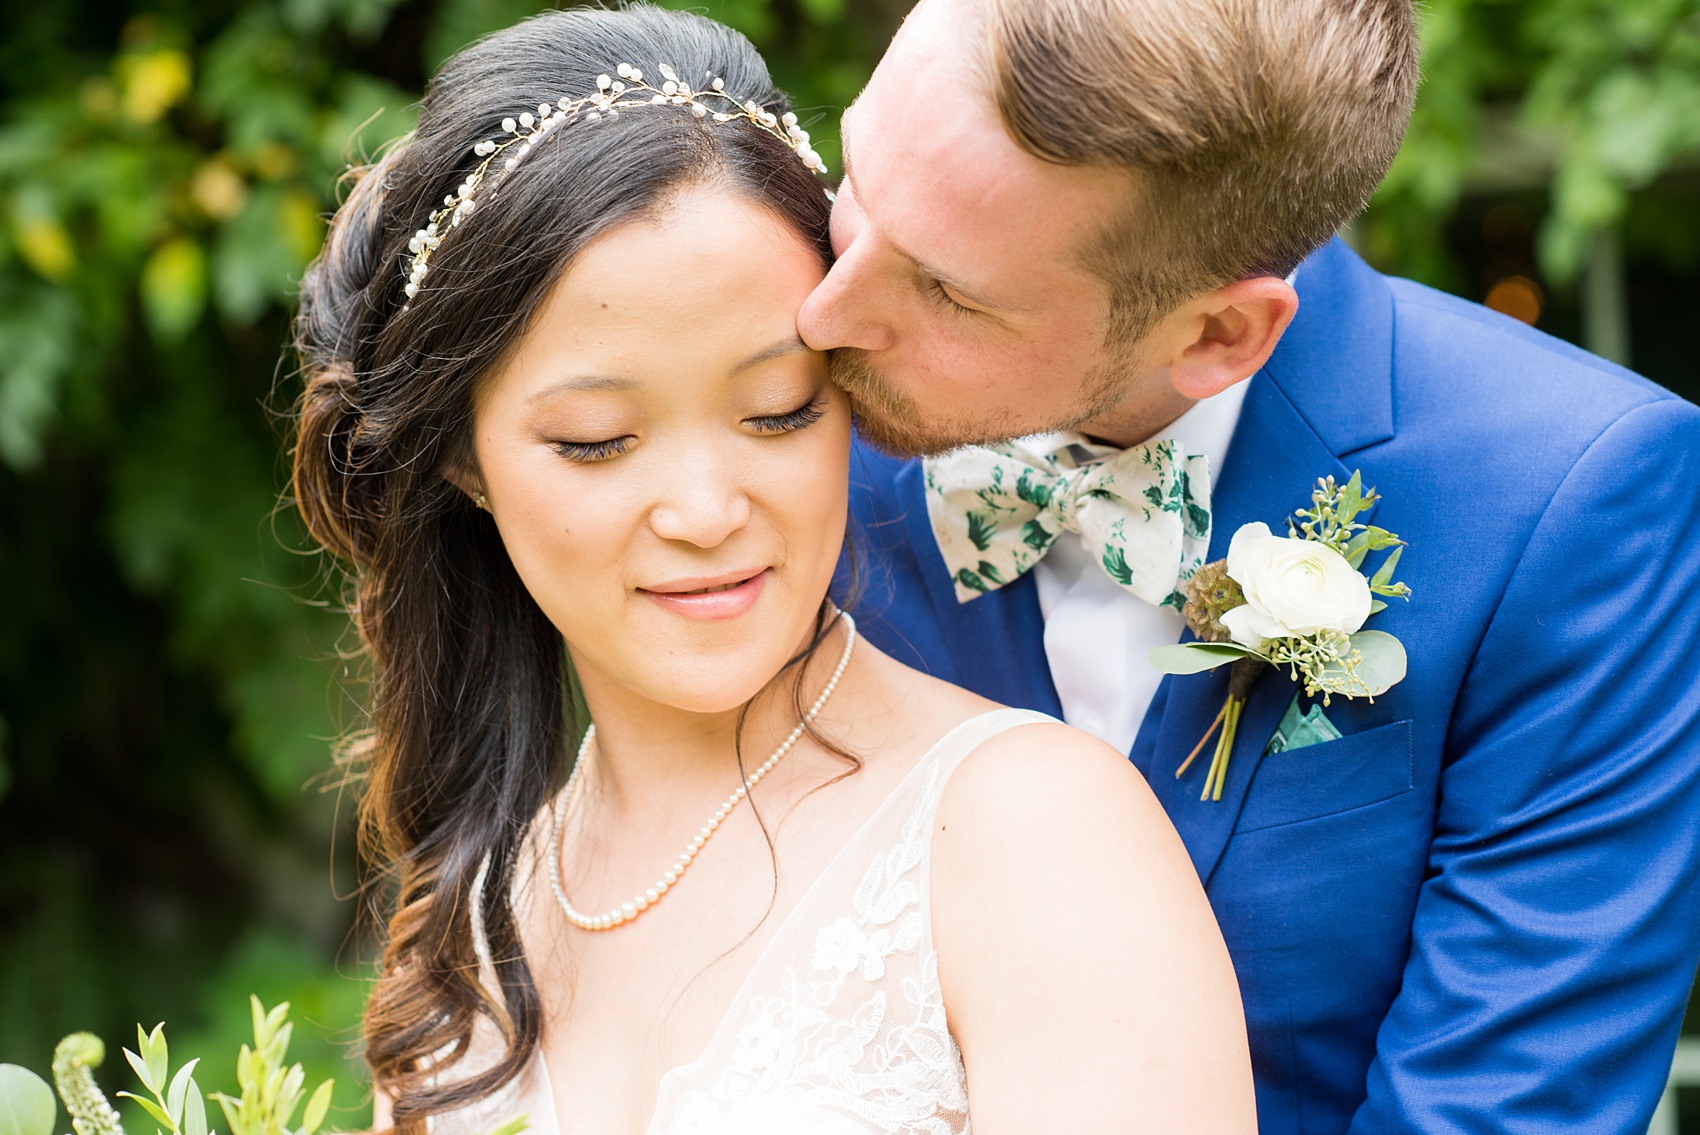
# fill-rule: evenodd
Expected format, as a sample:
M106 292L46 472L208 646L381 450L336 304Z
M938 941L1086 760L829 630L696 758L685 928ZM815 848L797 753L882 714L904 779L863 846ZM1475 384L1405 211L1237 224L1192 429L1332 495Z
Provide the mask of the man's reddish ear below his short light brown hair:
M1166 319L1178 325L1180 343L1170 360L1170 382L1197 401L1250 379L1297 311L1299 292L1278 275L1234 280L1185 304Z

